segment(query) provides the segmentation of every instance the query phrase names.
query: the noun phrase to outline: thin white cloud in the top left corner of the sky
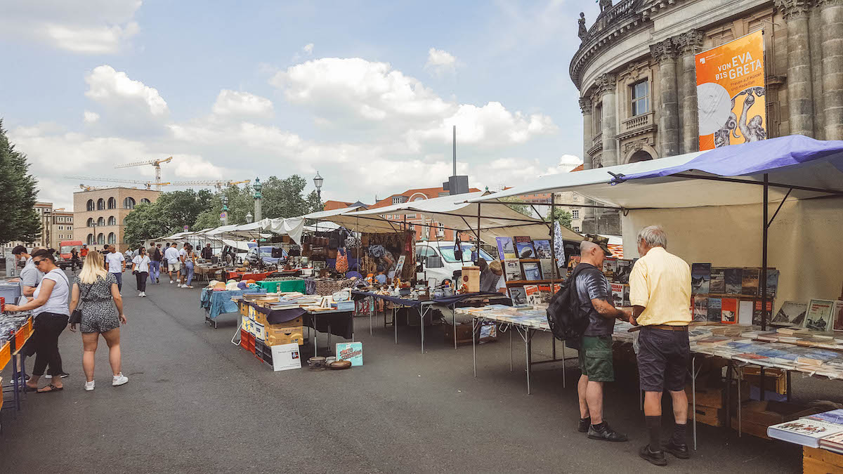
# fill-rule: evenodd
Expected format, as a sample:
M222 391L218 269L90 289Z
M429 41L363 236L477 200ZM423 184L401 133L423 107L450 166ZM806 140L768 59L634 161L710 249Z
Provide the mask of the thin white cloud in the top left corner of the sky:
M0 35L30 38L83 54L111 54L137 35L141 0L39 0L8 2Z

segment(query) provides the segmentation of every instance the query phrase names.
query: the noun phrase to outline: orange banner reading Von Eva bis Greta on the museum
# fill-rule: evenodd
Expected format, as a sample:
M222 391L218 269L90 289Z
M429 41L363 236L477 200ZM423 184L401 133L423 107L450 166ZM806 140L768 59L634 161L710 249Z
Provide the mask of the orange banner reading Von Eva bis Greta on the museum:
M767 137L764 32L695 56L700 150Z

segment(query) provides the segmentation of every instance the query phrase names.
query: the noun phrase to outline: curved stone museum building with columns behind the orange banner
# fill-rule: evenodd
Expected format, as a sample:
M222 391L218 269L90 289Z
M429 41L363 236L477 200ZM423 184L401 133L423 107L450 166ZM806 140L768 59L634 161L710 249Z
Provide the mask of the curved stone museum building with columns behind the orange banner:
M699 151L695 54L757 30L766 136L843 139L843 0L599 3L570 67L585 169ZM583 232L620 234L617 212L585 214Z

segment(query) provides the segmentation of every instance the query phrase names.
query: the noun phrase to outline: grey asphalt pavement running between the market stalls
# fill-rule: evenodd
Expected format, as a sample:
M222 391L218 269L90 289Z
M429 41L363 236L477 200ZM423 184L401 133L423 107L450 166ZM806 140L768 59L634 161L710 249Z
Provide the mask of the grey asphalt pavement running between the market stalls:
M422 354L417 326L400 326L395 344L383 318L370 335L368 317L358 316L362 367L276 373L231 344L237 315L207 326L198 287L165 281L148 285L141 299L133 279L125 281L129 383L110 385L102 341L97 388L83 391L81 337L65 331L60 345L71 376L63 391L30 393L22 412L3 411L0 472L801 471L797 446L702 424L690 460L668 455L668 468L649 465L637 455L647 431L628 380L608 384L604 404L609 423L631 441L587 439L576 431L576 359L567 362L566 388L560 364L547 364L534 369L527 395L518 335L513 371L502 335L477 347L474 378L471 346L454 350L440 327L428 328ZM320 355L326 339L319 335ZM303 359L310 355L304 346ZM549 357L550 337L535 337L534 360ZM794 379L797 394L840 401L839 386L826 388Z

